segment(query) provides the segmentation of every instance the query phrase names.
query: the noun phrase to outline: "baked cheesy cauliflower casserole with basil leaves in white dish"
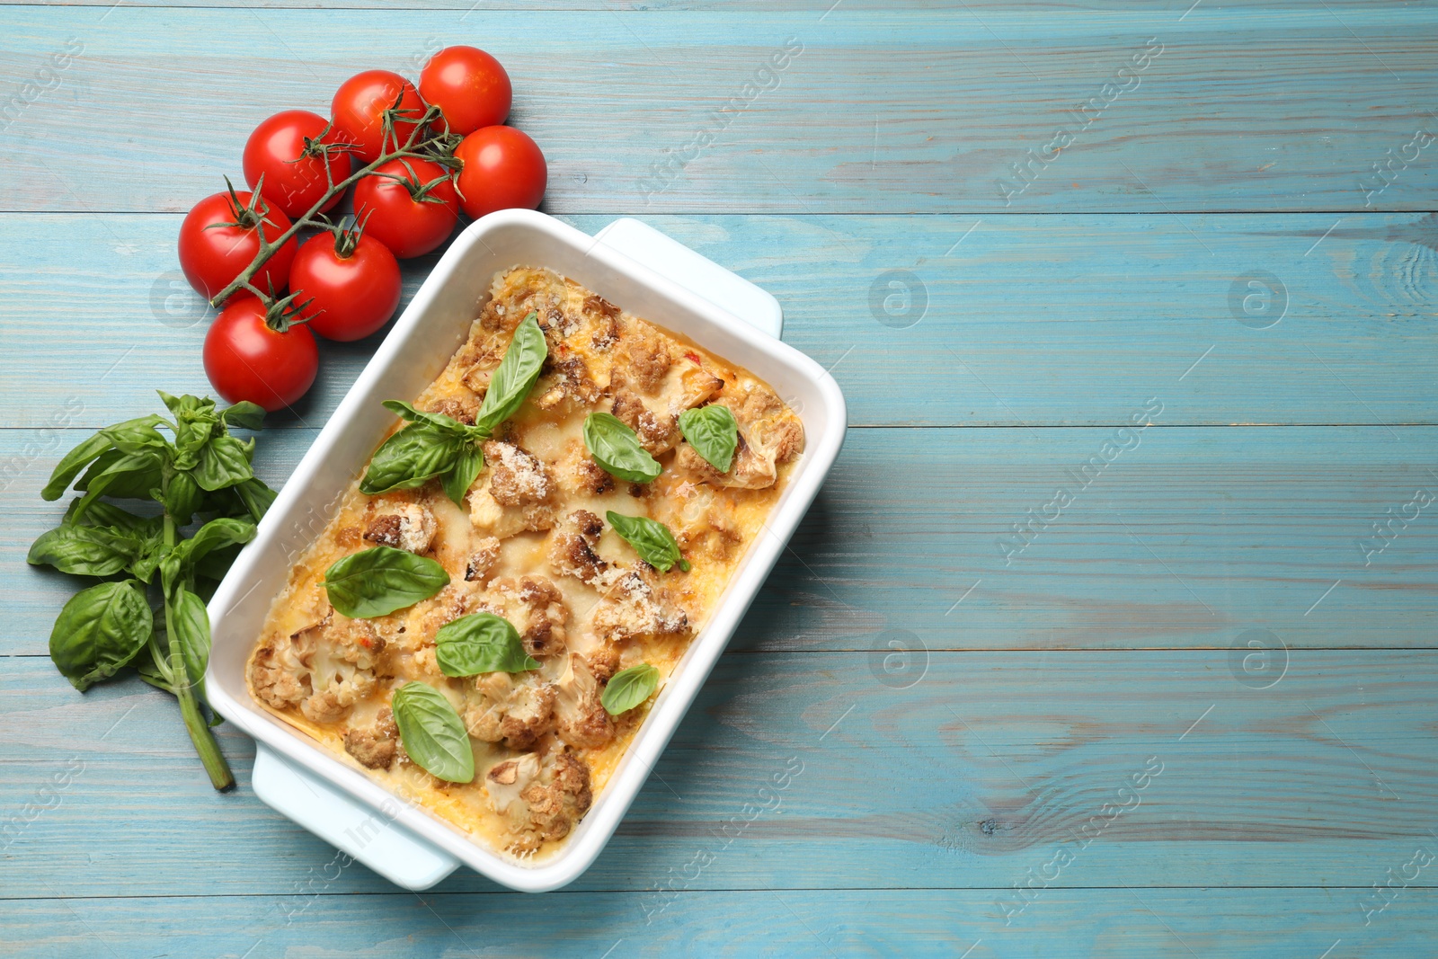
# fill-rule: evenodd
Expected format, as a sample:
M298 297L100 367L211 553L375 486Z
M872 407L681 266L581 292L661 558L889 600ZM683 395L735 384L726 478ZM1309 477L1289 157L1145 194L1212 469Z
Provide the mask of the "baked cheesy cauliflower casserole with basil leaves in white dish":
M590 809L804 447L766 384L551 270L469 338L290 569L255 699L533 861Z

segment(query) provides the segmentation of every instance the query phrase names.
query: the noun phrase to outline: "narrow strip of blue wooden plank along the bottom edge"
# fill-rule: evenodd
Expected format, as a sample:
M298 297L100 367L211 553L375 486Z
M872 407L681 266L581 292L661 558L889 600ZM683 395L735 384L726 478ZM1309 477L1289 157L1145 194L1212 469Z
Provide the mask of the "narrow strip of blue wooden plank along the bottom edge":
M319 876L316 870L316 876ZM332 874L332 870L331 873ZM324 887L324 878L315 880ZM1409 959L1438 896L1408 889L1362 924L1356 891L1054 890L1022 924L979 891L765 890L680 894L646 922L633 893L549 896L312 894L7 903L16 959L55 955L224 956L945 956L953 959ZM101 950L105 952L101 952ZM968 950L968 952L965 952Z

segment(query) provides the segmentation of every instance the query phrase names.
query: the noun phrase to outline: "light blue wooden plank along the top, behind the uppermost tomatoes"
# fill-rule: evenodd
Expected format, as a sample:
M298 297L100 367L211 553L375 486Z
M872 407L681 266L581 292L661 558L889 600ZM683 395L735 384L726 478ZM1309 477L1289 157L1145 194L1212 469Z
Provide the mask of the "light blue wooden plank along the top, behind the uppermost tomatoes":
M413 72L477 37L516 81L513 119L551 160L557 213L1432 207L1432 9L823 6L522 20L482 7L462 23L10 7L0 56L20 101L0 208L187 210L237 171L269 112L324 109L360 69ZM72 39L75 60L42 73ZM785 43L802 52L756 73Z

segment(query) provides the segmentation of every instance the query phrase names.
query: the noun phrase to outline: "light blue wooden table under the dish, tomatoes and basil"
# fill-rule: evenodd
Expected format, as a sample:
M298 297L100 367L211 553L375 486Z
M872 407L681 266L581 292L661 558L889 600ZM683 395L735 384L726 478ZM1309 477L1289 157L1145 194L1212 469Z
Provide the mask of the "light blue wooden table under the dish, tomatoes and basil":
M53 670L69 584L23 562L69 444L207 391L180 214L444 43L509 68L545 210L772 290L853 421L541 897L347 864L233 732L216 795L168 697ZM1434 4L79 0L0 9L0 68L4 955L1434 953ZM374 345L326 345L273 485Z

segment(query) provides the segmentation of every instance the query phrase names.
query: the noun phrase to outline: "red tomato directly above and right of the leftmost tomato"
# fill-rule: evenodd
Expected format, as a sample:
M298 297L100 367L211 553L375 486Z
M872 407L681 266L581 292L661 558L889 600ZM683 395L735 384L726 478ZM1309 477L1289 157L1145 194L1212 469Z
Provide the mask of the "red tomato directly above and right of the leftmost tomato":
M257 190L265 177L266 200L290 217L309 213L329 188L326 162L334 183L349 175L349 157L344 151L316 150L318 144L336 141L335 131L325 127L325 118L308 109L286 109L256 127L244 141L244 181L250 190ZM332 208L339 200L336 194L321 210Z

